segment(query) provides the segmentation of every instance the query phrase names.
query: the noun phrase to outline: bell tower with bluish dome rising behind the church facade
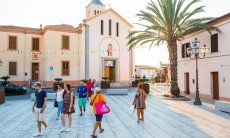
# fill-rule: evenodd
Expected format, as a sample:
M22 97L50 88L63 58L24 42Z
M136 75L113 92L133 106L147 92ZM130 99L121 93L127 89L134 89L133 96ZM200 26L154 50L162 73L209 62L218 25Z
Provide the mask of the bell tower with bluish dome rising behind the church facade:
M100 0L92 0L86 7L86 19L105 11L105 5Z

